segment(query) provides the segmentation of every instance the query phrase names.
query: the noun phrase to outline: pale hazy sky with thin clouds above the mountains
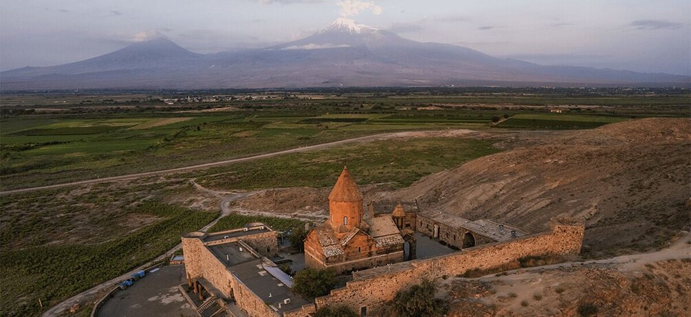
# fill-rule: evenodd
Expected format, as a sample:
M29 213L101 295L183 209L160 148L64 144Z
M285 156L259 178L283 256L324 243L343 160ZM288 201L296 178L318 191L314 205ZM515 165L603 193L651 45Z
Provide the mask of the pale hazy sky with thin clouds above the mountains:
M2 0L0 69L79 61L157 32L193 52L261 48L341 15L497 57L691 75L689 0Z

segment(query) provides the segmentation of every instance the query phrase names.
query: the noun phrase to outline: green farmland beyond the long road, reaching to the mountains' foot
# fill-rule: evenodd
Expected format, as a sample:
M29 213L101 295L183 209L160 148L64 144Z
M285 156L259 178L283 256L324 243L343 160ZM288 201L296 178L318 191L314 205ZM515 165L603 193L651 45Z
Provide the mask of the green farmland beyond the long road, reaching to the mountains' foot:
M684 90L466 90L238 93L233 101L176 106L154 95L3 96L1 186L171 169L390 131L594 128L689 116ZM553 105L568 113L549 113ZM230 110L205 112L223 107ZM435 110L418 110L426 108Z

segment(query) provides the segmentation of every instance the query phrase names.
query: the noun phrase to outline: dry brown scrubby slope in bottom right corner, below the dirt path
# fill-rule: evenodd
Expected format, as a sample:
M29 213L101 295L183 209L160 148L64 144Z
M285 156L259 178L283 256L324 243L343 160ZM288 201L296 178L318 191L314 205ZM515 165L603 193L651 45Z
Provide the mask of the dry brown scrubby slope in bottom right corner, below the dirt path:
M688 258L636 270L602 264L540 268L450 278L437 289L451 302L448 316L688 316L689 269Z

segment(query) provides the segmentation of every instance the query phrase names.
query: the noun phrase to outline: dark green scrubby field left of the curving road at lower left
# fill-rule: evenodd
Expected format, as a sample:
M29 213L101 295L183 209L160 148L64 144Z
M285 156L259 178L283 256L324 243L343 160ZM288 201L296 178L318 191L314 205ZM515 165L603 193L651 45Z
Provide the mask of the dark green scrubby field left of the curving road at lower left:
M160 203L142 204L135 213L162 220L135 233L100 244L29 247L0 253L3 314L39 314L38 299L55 305L68 296L142 265L180 242L180 233L198 230L216 213Z

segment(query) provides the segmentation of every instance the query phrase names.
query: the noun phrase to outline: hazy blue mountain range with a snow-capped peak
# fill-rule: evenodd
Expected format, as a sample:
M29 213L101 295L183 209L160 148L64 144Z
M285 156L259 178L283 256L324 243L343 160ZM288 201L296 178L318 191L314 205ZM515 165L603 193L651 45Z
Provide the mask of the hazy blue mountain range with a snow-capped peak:
M689 86L691 77L500 59L337 19L261 49L198 54L164 37L48 67L0 73L1 90L307 88L338 86Z

